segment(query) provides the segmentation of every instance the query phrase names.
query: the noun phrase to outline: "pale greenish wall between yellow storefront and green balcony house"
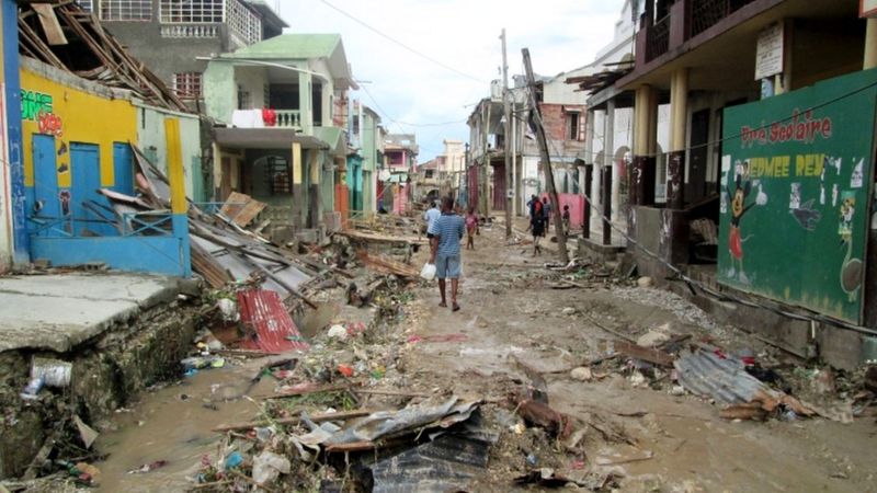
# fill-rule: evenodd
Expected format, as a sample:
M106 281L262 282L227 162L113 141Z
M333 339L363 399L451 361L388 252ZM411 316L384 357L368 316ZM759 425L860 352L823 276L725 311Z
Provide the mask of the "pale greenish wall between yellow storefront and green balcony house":
M168 146L164 138L164 121L180 121L183 147L183 174L186 197L204 202L209 194L202 173L201 121L195 115L169 112L157 107L137 105L137 146L145 152L155 152L156 164L168 175ZM149 151L148 151L149 150Z

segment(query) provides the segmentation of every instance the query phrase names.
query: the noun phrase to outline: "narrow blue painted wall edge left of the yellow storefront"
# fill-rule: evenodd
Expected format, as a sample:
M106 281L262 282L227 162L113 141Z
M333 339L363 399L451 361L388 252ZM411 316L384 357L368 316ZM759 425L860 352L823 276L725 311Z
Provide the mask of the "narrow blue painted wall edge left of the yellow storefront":
M2 0L3 12L3 79L5 82L7 129L9 138L10 184L12 188L12 226L14 263L22 265L31 261L27 223L25 218L26 195L24 190L24 161L21 156L21 79L19 77L19 8L14 0Z

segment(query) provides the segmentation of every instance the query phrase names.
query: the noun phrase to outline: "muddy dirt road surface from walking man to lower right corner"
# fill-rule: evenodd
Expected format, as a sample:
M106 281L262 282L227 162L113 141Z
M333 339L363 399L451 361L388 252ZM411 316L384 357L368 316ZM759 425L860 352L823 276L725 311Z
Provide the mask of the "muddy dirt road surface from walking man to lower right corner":
M516 360L543 371L553 408L582 422L610 420L637 443L612 444L590 434L585 439L588 463L624 474L623 491L874 491L870 420L734 423L718 417L718 408L699 398L635 388L617 372L600 381L573 380L569 369L599 357L604 342L617 339L594 322L633 336L669 323L674 332L727 341L731 349L764 348L665 291L611 284L551 289L546 260L553 259L534 259L532 246L508 246L504 228L497 226L483 230L477 250L464 251L462 311L438 308L436 289L418 289L412 311L419 323L406 331L467 337L421 343L407 354L406 366L424 389L498 398L514 386L510 379L523 378ZM576 314L563 314L565 308ZM490 477L508 481L521 473L531 452L537 467L577 466L574 457L554 448L498 447Z

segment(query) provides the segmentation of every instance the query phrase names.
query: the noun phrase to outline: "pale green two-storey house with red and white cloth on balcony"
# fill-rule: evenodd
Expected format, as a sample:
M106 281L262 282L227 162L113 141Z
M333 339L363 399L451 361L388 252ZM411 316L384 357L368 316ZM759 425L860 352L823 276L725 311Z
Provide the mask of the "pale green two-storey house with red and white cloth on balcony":
M216 195L269 204L275 233L319 229L346 167L348 90L338 34L286 34L218 55L204 73ZM340 114L341 113L341 114Z

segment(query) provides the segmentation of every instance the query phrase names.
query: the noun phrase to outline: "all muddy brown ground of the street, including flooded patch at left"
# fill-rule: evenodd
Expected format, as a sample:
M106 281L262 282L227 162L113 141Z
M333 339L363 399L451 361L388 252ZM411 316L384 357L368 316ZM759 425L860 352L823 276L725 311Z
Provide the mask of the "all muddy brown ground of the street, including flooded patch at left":
M425 255L419 252L413 264L421 265ZM368 371L379 367L378 377L364 381L373 389L485 400L483 414L500 438L488 468L468 491L534 489L512 480L538 468L582 480L611 473L618 491L630 492L875 491L873 417L846 425L822 419L728 421L708 400L674 389L672 371L640 380L640 371L623 358L594 364L590 380L572 378L573 368L606 356L618 333L636 339L656 329L691 333L692 340L711 341L728 352L745 349L765 363L784 360L675 295L606 276L604 266L585 267L573 276L578 286L556 289L560 274L544 266L554 260L550 250L533 257L532 246L509 244L499 226L485 228L476 250L464 251L460 311L440 308L437 289L415 284L396 294L395 316L369 325L379 333L361 342L329 342L319 334L305 362L362 362ZM343 305L341 293L326 297ZM350 321L356 311L374 318L377 309L345 307L334 310L333 321ZM204 371L145 393L104 423L98 447L109 457L96 463L99 491L191 488L204 458L217 454L221 436L210 429L263 411L259 397L273 392L276 383L250 385L260 364ZM577 446L567 447L537 426L521 426L510 395L532 385L534 371L545 382L548 404L584 431ZM368 395L360 405L400 408L408 402ZM167 466L127 472L158 460ZM311 480L297 488L316 491L321 477L343 473L329 471L314 468Z

